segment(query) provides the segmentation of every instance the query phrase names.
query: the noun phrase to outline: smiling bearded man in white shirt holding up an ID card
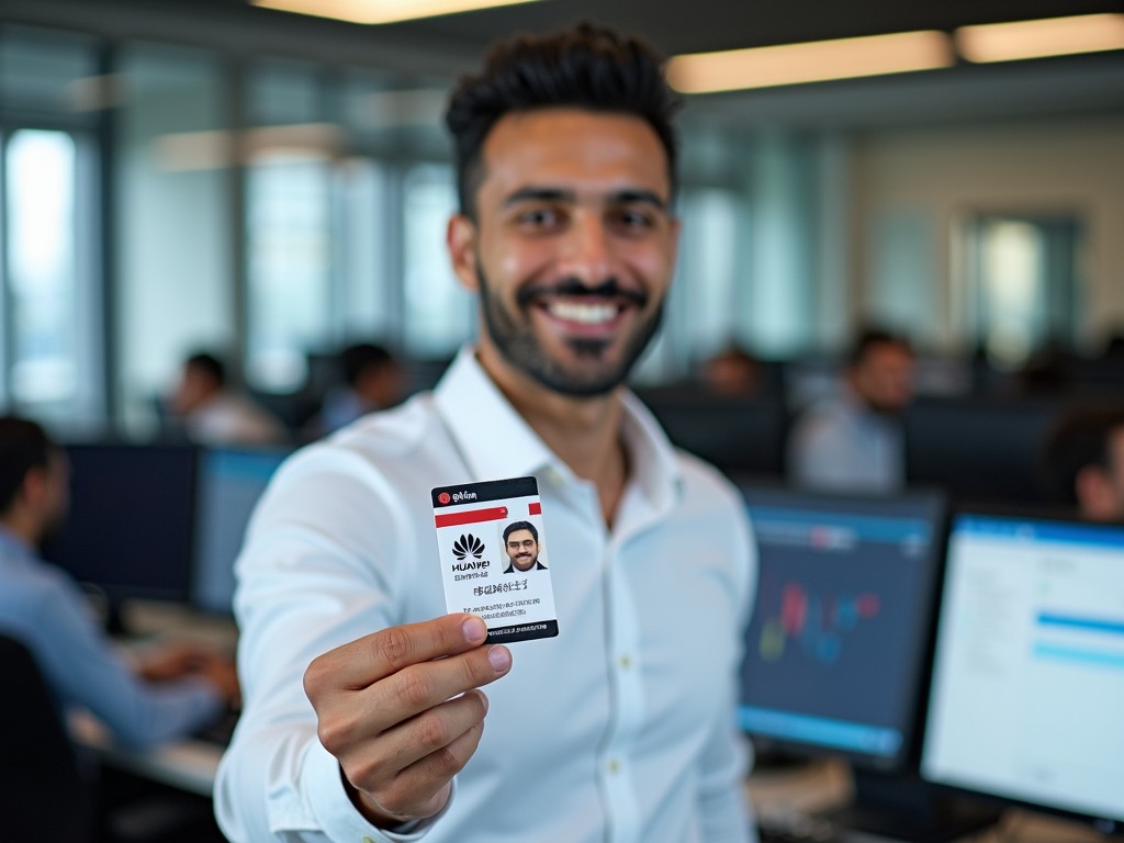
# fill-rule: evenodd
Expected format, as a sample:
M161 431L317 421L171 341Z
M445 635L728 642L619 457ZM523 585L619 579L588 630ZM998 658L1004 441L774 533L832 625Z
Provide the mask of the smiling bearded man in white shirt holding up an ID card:
M292 457L255 514L230 840L752 834L744 506L622 386L672 274L672 105L647 47L588 26L500 45L454 92L446 239L479 341L432 395ZM430 492L526 475L561 632L513 653L446 614Z

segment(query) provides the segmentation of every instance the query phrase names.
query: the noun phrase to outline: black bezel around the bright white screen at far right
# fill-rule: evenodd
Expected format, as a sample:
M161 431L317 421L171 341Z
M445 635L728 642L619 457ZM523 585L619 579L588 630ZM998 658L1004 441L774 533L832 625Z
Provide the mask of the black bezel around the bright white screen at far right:
M977 504L955 504L949 510L948 517L948 528L945 531L945 562L944 570L949 569L949 556L951 550L951 540L954 525L958 518L962 516L980 516L985 518L1010 518L1010 519L1026 519L1026 520L1039 520L1049 522L1053 524L1075 524L1081 526L1089 526L1096 528L1099 526L1113 527L1116 529L1124 529L1124 523L1097 523L1089 519L1082 518L1079 513L1073 509L1062 509L1059 507L1044 507L1044 506L1015 506L1015 505L977 505ZM1026 799L1019 799L1017 797L1008 796L1005 794L997 794L986 790L980 790L978 787L970 787L967 785L954 785L946 781L939 781L926 776L925 769L922 764L925 744L927 741L927 735L930 731L930 708L933 704L933 680L935 678L936 671L936 647L937 638L941 626L942 610L944 608L944 592L948 584L942 581L940 587L940 593L937 595L937 606L936 615L933 617L933 645L930 653L931 656L931 668L930 668L930 680L928 686L925 691L924 707L925 707L925 722L923 724L922 733L919 735L918 743L918 756L917 756L917 772L923 781L927 782L934 788L937 788L944 792L953 794L957 796L964 796L976 800L980 800L990 805L1009 806L1026 808L1028 810L1034 810L1041 814L1046 814L1050 816L1060 817L1063 819L1070 819L1084 825L1088 825L1095 828L1097 832L1106 835L1112 835L1114 837L1124 837L1124 816L1120 819L1112 817L1097 816L1090 813L1082 813L1080 810L1072 810L1054 805L1043 805L1042 803L1030 801Z

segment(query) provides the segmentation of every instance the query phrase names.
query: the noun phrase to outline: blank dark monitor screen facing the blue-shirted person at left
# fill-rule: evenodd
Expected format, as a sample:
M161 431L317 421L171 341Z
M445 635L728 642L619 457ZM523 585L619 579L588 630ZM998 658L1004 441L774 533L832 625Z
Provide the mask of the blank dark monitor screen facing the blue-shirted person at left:
M196 452L191 445L72 444L71 508L44 556L129 598L185 600Z

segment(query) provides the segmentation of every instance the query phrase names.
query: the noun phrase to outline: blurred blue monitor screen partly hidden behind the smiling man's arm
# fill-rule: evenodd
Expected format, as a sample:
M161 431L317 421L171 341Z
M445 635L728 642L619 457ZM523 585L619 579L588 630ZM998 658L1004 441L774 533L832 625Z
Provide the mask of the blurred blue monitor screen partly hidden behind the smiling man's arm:
M191 602L228 615L234 604L234 561L246 524L281 462L281 450L208 447L199 455Z

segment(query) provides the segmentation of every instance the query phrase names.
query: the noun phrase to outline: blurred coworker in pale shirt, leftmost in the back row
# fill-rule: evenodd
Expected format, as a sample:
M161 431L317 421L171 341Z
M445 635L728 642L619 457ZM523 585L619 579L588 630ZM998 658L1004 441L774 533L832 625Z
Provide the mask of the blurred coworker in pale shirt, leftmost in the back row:
M206 352L184 360L170 409L188 438L206 445L272 445L288 438L278 419L227 383L226 364Z

